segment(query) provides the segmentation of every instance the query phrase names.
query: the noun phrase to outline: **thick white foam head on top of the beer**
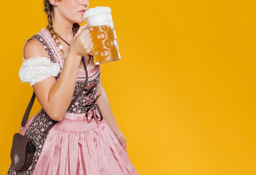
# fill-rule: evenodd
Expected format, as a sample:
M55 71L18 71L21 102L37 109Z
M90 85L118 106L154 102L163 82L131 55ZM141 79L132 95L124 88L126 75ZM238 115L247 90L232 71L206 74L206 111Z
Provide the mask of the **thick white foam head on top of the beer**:
M84 13L83 18L90 26L107 25L112 21L111 9L109 7L90 8Z

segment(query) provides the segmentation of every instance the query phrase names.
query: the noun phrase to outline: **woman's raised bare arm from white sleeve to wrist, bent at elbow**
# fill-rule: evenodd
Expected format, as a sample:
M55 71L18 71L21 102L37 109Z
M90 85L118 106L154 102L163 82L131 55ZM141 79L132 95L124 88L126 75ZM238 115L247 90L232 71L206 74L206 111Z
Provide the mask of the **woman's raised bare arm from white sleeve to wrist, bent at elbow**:
M54 85L51 85L51 81L42 81L38 85L34 85L38 101L53 120L62 120L72 101L80 64L79 59L81 60L81 58L75 58L73 55L67 55L61 75L58 81L54 82Z

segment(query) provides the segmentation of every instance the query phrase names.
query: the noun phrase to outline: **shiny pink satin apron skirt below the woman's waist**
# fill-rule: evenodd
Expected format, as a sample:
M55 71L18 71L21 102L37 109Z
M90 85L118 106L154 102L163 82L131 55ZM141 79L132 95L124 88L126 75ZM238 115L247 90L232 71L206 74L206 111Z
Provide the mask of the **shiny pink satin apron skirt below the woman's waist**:
M85 114L66 113L49 131L33 174L137 175L137 172L105 120L92 119L88 123Z

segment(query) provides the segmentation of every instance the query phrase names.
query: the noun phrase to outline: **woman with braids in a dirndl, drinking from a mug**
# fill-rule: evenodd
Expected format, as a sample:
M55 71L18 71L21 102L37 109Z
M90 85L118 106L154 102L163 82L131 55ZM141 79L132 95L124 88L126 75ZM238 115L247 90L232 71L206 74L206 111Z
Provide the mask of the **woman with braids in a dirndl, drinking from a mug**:
M87 26L78 24L88 0L44 0L44 5L49 25L26 42L19 72L33 86L42 109L22 133L37 140L53 120L58 122L47 137L35 141L29 169L16 173L11 165L8 174L137 174L101 85L100 67L89 55L92 38Z

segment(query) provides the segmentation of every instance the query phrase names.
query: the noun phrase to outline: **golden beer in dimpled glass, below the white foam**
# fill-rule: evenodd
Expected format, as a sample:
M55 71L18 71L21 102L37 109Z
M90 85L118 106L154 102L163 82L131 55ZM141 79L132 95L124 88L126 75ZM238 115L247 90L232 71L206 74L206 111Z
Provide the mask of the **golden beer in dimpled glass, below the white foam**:
M94 47L94 63L109 63L121 59L114 25L90 26Z

